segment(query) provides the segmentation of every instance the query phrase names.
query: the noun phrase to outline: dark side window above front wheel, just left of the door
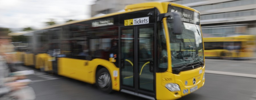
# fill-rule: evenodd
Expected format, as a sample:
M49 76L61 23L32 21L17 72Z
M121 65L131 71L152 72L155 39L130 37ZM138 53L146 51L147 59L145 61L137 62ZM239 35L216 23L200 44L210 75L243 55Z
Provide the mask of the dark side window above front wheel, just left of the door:
M100 29L91 31L90 35L90 56L92 59L101 58L109 60L110 54L117 54L118 28Z

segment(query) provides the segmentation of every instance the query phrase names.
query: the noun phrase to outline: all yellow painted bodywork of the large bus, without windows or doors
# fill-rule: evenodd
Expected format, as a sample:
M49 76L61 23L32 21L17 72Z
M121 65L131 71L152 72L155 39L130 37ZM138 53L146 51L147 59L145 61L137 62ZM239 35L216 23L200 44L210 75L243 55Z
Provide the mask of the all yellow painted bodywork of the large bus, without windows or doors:
M112 13L112 14L108 14L106 16L101 16L101 17L96 17L96 18L91 18L91 19L104 18L104 17L113 16L113 15L117 15L117 14L124 14L124 13L128 13L128 12L136 12L136 11L145 10L145 9L154 8L154 7L157 8L160 13L166 13L167 9L168 9L168 5L177 6L180 8L185 8L188 10L192 10L194 12L198 12L197 10L195 10L193 8L189 8L187 6L182 6L182 5L179 5L176 3L152 2L152 3L141 3L141 4L135 4L135 5L128 5L125 7L125 12ZM82 20L82 21L87 21L87 20L91 20L91 19L86 19L86 20ZM82 22L82 21L72 21L72 22L68 22L63 25L68 25L68 24ZM48 28L59 27L59 26L63 26L63 25L53 25ZM170 50L170 40L169 40L170 38L169 38L166 18L163 19L163 26L164 26L165 35L166 35L166 44L167 44L167 51L168 51L167 52L168 53L168 69L167 69L167 71L162 72L162 73L155 73L155 79L156 79L155 80L156 81L156 84L155 84L156 97L155 98L159 99L159 100L174 100L174 99L178 99L182 96L185 96L185 95L191 93L191 92L188 92L188 93L184 94L183 90L187 90L187 89L189 90L190 88L195 87L195 86L197 86L198 87L197 89L199 89L204 85L205 79L203 79L203 75L205 73L205 66L199 67L196 69L192 69L192 70L188 70L188 71L181 71L179 74L173 74L172 73L171 52L170 52L171 51ZM48 28L45 28L45 29L48 29ZM186 40L186 41L189 41L189 40ZM65 53L69 53L69 52L71 52L71 51L65 51ZM199 52L202 52L199 55L204 56L202 50L199 50ZM35 62L34 62L34 58L35 58ZM55 58L50 57L46 53L37 54L37 55L24 54L24 65L26 65L26 66L34 65L35 68L37 68L37 69L43 68L44 71L51 71L51 70L53 70L53 68L51 66L53 59L55 59ZM112 62L110 62L108 60L104 60L104 59L100 59L100 58L96 58L96 59L92 59L92 60L80 60L80 59L65 58L65 57L56 58L55 60L58 61L58 63L57 63L58 75L62 75L62 76L76 79L79 81L87 82L90 84L96 83L97 68L99 68L101 66L105 67L106 69L108 69L111 79L112 79L112 89L116 90L116 91L121 90L119 68L117 66L115 66L115 64L113 64ZM117 71L117 73L118 73L117 77L113 76L114 71ZM188 78L188 76L193 77L196 80L198 80L196 82L196 84L191 84L191 82L193 80L192 80L192 78ZM185 81L191 81L191 82L189 82L190 84L187 84L185 86L184 85ZM181 91L171 92L170 90L168 90L165 87L165 85L167 83L178 84L180 86Z

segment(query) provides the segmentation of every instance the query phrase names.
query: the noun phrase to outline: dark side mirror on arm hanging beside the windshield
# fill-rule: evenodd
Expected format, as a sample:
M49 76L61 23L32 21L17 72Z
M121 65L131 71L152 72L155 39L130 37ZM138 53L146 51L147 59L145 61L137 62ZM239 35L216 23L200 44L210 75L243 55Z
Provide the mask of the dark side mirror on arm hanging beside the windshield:
M165 17L172 17L173 22L174 22L173 23L174 24L173 25L173 28L174 28L173 34L180 35L180 34L182 34L180 15L182 15L182 14L179 12L167 12L164 14L159 14L157 21L162 21L162 19Z

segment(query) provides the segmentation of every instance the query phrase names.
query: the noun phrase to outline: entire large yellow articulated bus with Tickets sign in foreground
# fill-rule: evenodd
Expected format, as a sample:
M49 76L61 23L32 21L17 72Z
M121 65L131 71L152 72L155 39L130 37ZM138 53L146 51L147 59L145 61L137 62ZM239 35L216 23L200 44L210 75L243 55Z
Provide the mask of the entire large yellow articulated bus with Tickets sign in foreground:
M170 2L127 5L124 12L31 32L24 64L106 92L178 99L205 83L199 16Z

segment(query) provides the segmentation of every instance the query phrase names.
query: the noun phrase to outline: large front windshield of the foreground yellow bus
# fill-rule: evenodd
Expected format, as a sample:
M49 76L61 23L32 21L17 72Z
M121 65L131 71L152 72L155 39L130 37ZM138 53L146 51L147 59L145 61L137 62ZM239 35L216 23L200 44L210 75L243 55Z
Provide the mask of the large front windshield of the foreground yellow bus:
M182 34L173 34L173 22L167 20L172 68L178 68L187 64L203 62L203 42L199 25L181 24Z

